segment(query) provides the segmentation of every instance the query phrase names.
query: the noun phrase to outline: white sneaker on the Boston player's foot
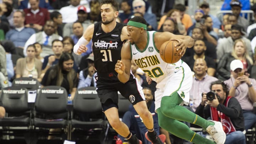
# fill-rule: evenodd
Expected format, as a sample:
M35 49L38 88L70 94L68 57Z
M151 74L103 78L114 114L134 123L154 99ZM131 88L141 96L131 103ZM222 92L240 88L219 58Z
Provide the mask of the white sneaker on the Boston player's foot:
M217 121L214 122L214 126L208 126L206 128L206 131L213 137L214 142L217 144L224 144L226 140L226 133L223 130L222 123Z

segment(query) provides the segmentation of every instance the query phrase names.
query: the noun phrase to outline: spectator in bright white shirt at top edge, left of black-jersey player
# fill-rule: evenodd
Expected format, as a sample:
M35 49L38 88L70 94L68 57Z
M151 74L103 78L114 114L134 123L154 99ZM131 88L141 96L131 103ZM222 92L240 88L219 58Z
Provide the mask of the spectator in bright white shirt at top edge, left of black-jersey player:
M78 19L76 12L78 10L79 4L80 0L70 0L69 6L65 6L60 9L59 12L62 14L63 23L75 22Z

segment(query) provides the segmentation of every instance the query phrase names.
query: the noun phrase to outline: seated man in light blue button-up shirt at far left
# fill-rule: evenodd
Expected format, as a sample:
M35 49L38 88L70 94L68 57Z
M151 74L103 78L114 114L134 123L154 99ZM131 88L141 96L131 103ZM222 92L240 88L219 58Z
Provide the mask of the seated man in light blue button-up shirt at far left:
M6 40L12 41L16 47L23 48L28 38L35 33L33 28L24 27L25 13L16 11L13 15L14 28L5 35Z

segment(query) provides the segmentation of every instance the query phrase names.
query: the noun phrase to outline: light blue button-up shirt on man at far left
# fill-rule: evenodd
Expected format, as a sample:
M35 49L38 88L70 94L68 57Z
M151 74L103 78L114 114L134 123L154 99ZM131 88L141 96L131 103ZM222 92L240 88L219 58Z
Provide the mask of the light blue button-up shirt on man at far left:
M15 47L24 47L27 40L36 33L33 28L24 27L21 31L12 29L5 35L6 40L10 40L14 43Z

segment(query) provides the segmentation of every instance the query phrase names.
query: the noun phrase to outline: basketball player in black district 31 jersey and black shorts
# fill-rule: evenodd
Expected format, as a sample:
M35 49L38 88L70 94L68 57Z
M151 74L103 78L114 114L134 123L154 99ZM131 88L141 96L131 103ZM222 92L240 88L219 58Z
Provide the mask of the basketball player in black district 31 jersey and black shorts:
M85 30L83 36L74 46L74 53L81 54L86 52L86 45L92 39L92 51L94 54L94 64L97 70L96 84L97 94L102 103L102 109L116 132L126 138L131 144L142 144L129 128L119 120L118 116L118 93L126 97L134 106L137 113L143 119L148 129L150 140L154 144L162 144L165 136L160 138L154 131L153 117L148 111L142 87L130 74L129 81L125 84L117 78L114 70L117 60L121 60L121 48L123 41L128 38L127 28L121 23L116 22L119 5L115 0L103 0L101 2L102 22L90 25Z

